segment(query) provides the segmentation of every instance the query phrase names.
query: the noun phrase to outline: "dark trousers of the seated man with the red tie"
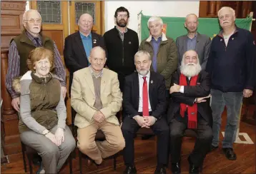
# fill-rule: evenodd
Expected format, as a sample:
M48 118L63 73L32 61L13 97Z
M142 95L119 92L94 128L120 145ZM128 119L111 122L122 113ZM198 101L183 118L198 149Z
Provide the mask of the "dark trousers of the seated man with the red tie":
M123 150L124 164L134 165L134 135L139 130L137 121L132 118L125 117L122 123L122 133L125 140L125 148ZM167 165L168 146L169 146L169 127L165 118L157 120L152 131L157 135L157 165Z

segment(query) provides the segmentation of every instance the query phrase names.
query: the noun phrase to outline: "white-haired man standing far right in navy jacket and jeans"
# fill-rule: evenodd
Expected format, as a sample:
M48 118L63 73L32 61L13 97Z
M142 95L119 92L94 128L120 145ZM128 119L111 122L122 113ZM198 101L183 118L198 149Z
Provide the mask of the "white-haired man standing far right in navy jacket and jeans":
M236 160L232 145L239 124L242 98L252 96L255 86L255 41L250 31L235 25L235 10L224 6L218 11L222 31L212 39L206 71L212 79L212 150L218 148L222 111L227 106L227 125L222 150Z

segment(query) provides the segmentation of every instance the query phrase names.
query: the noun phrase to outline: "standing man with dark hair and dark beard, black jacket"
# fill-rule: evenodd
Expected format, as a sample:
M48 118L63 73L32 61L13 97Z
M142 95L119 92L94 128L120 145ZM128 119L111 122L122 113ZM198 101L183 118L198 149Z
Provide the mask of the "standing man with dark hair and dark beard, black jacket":
M117 26L104 34L107 47L107 67L118 73L120 89L123 91L124 77L135 71L134 55L139 48L135 31L128 29L129 11L123 6L114 13Z

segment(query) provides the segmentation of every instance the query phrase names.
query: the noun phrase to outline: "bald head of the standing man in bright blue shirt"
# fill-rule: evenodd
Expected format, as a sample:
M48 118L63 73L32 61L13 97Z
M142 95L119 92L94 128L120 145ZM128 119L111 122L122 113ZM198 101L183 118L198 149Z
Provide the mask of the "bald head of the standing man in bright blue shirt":
M89 14L82 14L78 21L79 31L88 36L92 31L94 19Z

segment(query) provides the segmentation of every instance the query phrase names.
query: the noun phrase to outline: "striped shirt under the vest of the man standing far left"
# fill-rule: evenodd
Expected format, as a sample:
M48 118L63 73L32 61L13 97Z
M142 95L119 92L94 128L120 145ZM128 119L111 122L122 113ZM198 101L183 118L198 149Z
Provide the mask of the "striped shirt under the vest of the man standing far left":
M29 34L29 32L27 31L25 34L34 43L34 45L37 46L36 39L34 38L34 36ZM41 38L39 38L38 41L41 46ZM54 66L56 69L56 75L59 78L63 79L63 81L61 81L61 86L66 86L66 71L64 69L63 63L61 61L61 56L59 54L59 51L56 47L55 42L54 42L54 56L55 56ZM15 41L12 41L10 44L8 57L9 57L9 62L8 62L8 70L6 74L6 88L11 94L11 98L16 98L16 97L19 97L19 93L16 93L11 87L12 81L14 80L14 78L19 76L19 65L20 65L19 51L17 49Z

